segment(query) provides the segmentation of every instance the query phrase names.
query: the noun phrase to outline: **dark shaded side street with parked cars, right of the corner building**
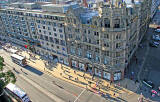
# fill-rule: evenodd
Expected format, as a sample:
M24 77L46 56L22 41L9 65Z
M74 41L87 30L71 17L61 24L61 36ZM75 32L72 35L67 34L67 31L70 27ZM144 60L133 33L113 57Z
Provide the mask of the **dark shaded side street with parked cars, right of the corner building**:
M157 10L152 22L150 23L152 26L148 29L146 35L141 41L141 45L136 51L135 56L137 57L137 62L135 59L131 61L129 68L127 70L126 78L132 79L135 82L138 80L138 77L141 81L144 79L153 82L155 85L154 90L159 92L158 86L160 86L160 46L158 48L149 46L149 42L152 41L152 35L160 35L160 33L155 32L155 28L159 25L160 22L160 10ZM158 41L158 43L160 43ZM141 84L139 90L137 90L138 94L141 94L146 98L150 99L150 101L160 102L159 96L152 97L151 88L146 86L145 84ZM160 93L160 92L159 92Z

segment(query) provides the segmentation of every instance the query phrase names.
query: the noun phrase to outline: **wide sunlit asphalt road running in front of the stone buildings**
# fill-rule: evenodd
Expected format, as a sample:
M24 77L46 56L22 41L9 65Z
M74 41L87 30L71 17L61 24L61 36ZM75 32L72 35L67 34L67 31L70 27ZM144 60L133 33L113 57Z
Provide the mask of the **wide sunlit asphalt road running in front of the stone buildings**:
M33 102L55 102L51 97L43 93L40 89L32 85L32 83L24 80L20 76L25 76L28 80L39 85L46 92L55 95L59 99L65 102L106 102L107 100L101 96L87 91L83 88L74 86L63 80L59 80L53 76L49 76L43 72L40 72L34 68L22 68L11 61L10 55L0 49L0 55L4 57L8 68L15 68L17 77L17 86L22 88ZM22 71L20 69L23 69ZM83 93L82 93L83 92ZM78 97L78 98L77 98Z

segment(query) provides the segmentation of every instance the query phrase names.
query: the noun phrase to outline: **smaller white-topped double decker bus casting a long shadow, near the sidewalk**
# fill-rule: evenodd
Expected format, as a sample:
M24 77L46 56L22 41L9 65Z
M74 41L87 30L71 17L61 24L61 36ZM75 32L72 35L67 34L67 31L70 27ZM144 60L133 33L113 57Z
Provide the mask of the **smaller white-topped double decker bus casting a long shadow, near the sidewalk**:
M26 66L27 62L26 62L26 58L22 57L20 55L17 54L12 54L11 55L11 59L14 63L20 65L20 66Z

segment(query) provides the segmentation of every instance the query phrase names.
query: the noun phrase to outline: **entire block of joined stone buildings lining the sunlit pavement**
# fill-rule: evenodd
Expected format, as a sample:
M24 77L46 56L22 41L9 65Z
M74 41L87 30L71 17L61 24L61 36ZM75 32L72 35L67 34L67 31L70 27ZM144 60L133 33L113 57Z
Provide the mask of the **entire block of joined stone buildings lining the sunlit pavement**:
M99 2L94 9L77 4L0 9L0 38L74 69L121 80L148 29L151 3L115 0Z

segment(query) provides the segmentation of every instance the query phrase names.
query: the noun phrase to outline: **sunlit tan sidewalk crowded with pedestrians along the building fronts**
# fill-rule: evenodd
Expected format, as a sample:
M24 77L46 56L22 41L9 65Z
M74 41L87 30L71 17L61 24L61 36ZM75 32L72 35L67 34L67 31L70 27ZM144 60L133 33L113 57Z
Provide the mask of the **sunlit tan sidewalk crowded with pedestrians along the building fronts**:
M25 51L21 54L23 56L26 56L27 59L30 58L29 54ZM36 59L34 60L27 60L28 65L30 65L31 67L34 67L43 72L47 72L50 75L53 75L54 77L67 81L71 84L87 88L88 90L100 95L108 94L110 97L113 98L123 98L122 96L129 97L130 95L133 95L134 92L137 90L137 85L135 85L134 81L128 79L124 79L116 84L113 84L106 80L99 79L98 77L93 78L90 74L78 70L73 70L72 68L62 64L57 64L55 68L52 68L53 70L49 70L45 67L45 61L41 60L40 56L36 55L35 57ZM126 87L126 85L127 88L133 89L133 92L123 88Z

